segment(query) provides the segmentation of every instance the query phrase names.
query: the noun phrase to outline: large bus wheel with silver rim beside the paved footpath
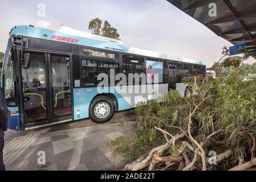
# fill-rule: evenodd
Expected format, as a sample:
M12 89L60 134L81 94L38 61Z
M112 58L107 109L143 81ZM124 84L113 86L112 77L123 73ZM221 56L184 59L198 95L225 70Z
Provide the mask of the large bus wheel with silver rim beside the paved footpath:
M95 123L108 122L115 114L113 101L106 96L96 97L90 106L90 119Z

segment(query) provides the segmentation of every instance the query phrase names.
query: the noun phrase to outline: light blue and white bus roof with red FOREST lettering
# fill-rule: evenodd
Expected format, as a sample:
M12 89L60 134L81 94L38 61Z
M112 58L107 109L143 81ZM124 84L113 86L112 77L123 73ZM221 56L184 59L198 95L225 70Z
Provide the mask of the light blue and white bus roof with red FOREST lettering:
M111 51L126 52L141 56L157 57L159 59L168 59L182 61L186 63L206 65L203 61L197 61L188 58L180 58L165 53L147 51L145 49L124 46L121 40L89 34L87 32L74 30L70 27L58 26L56 24L47 22L38 22L35 27L24 25L15 26L11 31L11 35L21 35L32 38L54 40L58 42L78 44L80 46L108 49Z

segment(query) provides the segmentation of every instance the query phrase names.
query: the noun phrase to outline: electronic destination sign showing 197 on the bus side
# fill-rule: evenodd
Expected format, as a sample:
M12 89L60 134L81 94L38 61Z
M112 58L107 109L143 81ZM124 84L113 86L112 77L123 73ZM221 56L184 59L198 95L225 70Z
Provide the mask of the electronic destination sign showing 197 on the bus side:
M99 50L86 49L86 48L82 49L82 55L89 56L89 57L102 57L106 59L120 59L119 53L99 51Z

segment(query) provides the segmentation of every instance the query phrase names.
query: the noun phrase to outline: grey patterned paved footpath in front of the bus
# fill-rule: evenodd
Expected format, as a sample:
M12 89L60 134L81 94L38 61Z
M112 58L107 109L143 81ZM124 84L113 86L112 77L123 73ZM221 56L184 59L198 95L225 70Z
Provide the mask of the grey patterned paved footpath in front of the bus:
M131 137L135 122L113 123L48 132L31 130L23 137L5 141L7 170L115 170L123 164L108 143L116 137ZM38 152L46 154L46 165L38 164ZM40 154L40 153L39 153Z

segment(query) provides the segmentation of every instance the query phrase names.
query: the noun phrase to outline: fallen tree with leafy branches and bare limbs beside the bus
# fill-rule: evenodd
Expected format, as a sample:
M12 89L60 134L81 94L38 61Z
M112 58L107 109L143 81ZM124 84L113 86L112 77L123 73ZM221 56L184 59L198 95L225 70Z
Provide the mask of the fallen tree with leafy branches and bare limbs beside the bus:
M229 69L227 76L191 77L193 81L186 81L188 97L172 90L137 104L137 135L113 147L139 154L125 169L237 171L254 167L256 80L241 80L238 66L242 60L235 56L214 64L216 69ZM141 154L141 148L149 150Z

